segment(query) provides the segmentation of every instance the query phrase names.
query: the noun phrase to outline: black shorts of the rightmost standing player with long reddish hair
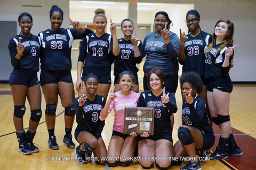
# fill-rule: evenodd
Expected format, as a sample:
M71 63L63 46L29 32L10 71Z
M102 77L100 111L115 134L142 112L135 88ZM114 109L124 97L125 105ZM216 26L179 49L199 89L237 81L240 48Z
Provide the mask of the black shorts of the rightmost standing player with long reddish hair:
M207 78L207 91L212 92L213 88L222 92L231 93L233 84L229 76Z

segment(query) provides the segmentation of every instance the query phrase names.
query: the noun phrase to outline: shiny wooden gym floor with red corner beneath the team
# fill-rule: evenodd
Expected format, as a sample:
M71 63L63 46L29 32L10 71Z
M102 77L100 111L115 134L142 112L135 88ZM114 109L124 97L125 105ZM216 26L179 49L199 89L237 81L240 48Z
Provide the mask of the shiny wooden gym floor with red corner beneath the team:
M74 78L75 79L75 78ZM179 88L179 87L178 87ZM142 85L140 85L142 90ZM76 94L77 96L77 94ZM175 114L175 126L173 130L173 142L178 141L177 128L181 120L181 94L177 90L175 94L178 105L178 112ZM243 156L230 156L226 160L212 160L201 163L202 169L255 169L254 153L256 153L256 85L234 85L230 100L230 118L233 133L238 145L243 150ZM37 128L37 134L34 143L39 145L39 152L32 155L22 155L18 151L18 141L15 135L13 125L13 100L9 84L0 84L0 169L142 169L138 161L133 161L128 167L108 167L95 164L94 161L85 165L78 164L75 158L74 149L68 149L62 143L65 134L65 126L63 119L63 108L59 102L57 107L57 118L55 124L55 135L59 144L59 150L49 149L47 140L49 138L45 124L44 114L41 118L40 125ZM26 102L26 114L23 118L24 128L28 127L30 117L29 104ZM42 95L42 111L45 111L45 101ZM113 127L113 114L106 119L106 125L102 132L103 140L108 147ZM73 126L73 136L76 122ZM218 143L220 130L217 126L213 126L216 140L211 151L215 150ZM73 137L73 141L76 140ZM171 166L169 169L179 169L186 165ZM157 169L154 165L151 169Z

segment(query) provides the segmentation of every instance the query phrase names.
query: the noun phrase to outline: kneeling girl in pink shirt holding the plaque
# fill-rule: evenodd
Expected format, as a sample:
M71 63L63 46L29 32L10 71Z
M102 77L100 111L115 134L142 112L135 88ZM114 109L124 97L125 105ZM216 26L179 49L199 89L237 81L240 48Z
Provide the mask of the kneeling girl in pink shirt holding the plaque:
M135 77L130 71L123 71L119 75L121 90L111 93L105 107L100 112L100 120L105 120L110 111L114 108L115 120L112 136L108 145L107 157L114 157L108 160L108 166L128 166L131 163L134 150L137 147L137 137L123 134L124 132L124 108L137 107L140 94L132 91Z

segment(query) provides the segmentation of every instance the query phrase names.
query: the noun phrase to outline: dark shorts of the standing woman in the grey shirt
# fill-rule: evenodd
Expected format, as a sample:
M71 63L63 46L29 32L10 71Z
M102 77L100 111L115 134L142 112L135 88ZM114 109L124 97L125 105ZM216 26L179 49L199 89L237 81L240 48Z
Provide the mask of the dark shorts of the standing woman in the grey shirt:
M166 91L175 93L178 87L178 78L179 76L165 76L165 82L163 87L165 87ZM144 90L149 90L148 83L147 83L147 77L143 77L143 88Z

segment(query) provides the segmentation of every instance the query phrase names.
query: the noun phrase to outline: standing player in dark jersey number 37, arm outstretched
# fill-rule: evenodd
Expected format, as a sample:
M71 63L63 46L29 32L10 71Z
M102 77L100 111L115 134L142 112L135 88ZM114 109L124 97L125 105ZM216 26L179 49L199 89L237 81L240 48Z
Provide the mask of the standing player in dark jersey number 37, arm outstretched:
M70 19L69 19L70 20ZM72 127L75 119L75 91L71 77L71 47L74 39L83 39L90 29L81 27L78 21L71 21L74 29L61 28L63 11L53 5L50 10L51 28L39 33L42 40L40 83L44 93L46 109L45 121L49 133L49 148L59 149L54 127L58 95L65 108L65 136L63 143L68 148L75 148L72 141Z

